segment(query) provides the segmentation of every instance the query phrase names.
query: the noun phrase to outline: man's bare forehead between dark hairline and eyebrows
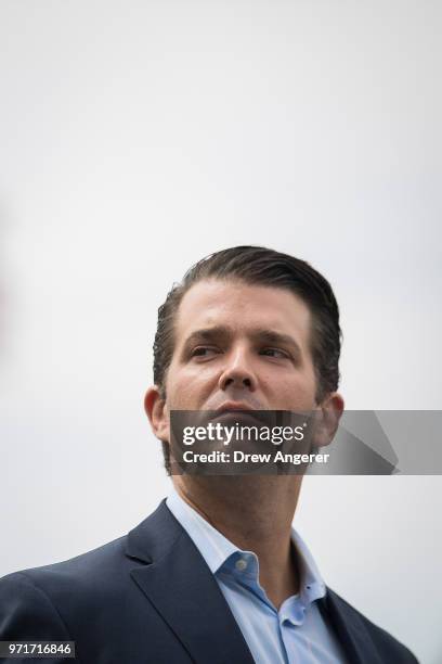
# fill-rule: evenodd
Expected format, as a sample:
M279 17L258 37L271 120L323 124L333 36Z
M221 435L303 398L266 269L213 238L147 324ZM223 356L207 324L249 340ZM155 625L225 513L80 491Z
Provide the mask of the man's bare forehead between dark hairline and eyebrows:
M227 324L238 333L266 328L291 334L307 349L311 314L306 303L287 289L243 281L199 281L181 301L176 343L184 343L195 330L218 324Z

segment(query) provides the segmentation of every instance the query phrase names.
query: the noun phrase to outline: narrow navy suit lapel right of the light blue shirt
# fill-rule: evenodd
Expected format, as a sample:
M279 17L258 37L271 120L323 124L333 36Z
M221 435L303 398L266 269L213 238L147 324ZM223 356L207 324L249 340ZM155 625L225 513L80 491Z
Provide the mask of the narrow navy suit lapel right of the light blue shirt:
M358 612L339 595L327 588L318 605L324 618L332 622L350 664L382 664Z

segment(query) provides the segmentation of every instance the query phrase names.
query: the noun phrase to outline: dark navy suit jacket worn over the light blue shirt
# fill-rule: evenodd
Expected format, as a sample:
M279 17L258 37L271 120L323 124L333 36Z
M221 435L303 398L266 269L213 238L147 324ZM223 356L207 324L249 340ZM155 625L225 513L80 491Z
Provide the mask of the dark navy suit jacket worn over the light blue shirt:
M333 590L320 608L351 664L416 664ZM76 642L76 660L51 662L253 662L217 580L165 501L125 537L0 579L0 641L11 640Z

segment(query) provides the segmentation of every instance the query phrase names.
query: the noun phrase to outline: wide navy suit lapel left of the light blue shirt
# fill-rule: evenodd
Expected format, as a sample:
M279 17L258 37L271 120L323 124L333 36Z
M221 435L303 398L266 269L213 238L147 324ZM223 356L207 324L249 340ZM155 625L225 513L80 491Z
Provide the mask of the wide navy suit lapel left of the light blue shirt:
M165 505L128 536L146 562L131 576L198 664L253 664L243 634L199 551Z

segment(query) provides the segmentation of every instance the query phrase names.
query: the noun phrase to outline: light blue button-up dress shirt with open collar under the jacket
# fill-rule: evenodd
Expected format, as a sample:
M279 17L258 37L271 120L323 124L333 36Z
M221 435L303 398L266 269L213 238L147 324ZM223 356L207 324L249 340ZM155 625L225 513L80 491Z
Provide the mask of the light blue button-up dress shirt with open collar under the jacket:
M259 584L259 562L255 553L235 547L176 489L166 505L214 575L258 664L347 663L341 646L315 602L325 596L325 584L294 528L291 539L298 552L301 589L287 598L277 611Z

